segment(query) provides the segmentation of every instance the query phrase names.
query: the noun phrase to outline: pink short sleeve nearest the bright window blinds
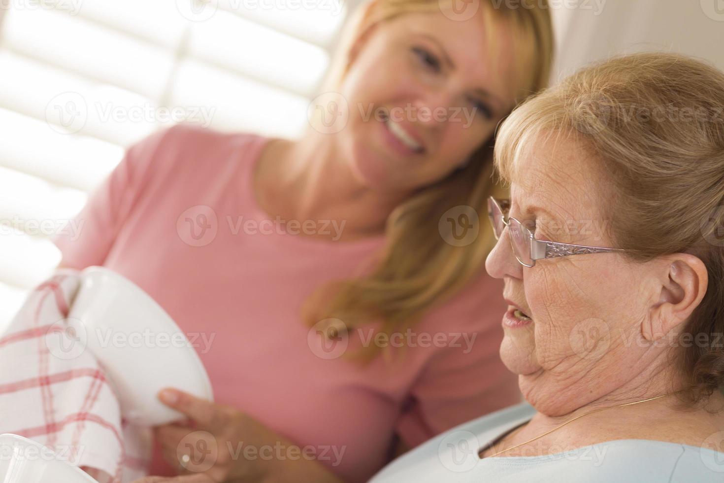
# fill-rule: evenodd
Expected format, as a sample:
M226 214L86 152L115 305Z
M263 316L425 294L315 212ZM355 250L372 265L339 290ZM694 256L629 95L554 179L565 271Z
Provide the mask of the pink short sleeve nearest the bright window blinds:
M62 253L62 264L83 269L103 265L119 230L133 209L148 177L160 168L160 156L177 126L159 130L127 148L122 160L88 196L83 209L72 219L72 230L51 238Z

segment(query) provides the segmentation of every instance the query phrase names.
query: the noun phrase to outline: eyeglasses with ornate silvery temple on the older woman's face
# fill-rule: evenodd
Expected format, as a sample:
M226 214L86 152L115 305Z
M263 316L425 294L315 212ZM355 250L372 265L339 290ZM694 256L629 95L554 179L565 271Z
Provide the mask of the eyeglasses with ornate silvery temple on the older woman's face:
M510 229L508 233L510 245L513 247L515 258L523 266L534 266L536 260L552 259L557 256L583 255L584 253L609 253L627 251L623 248L603 248L599 246L571 245L570 243L556 243L544 240L536 240L531 230L513 217L505 221L505 214L510 209L510 200L496 200L492 196L488 198L488 217L493 225L495 239L499 240L502 230L505 227Z

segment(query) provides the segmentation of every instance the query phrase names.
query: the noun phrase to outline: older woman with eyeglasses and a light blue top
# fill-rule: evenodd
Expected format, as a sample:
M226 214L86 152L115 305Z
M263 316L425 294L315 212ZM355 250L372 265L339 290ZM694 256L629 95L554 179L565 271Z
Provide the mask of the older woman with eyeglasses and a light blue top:
M528 403L398 458L383 482L724 480L724 75L674 54L523 104L489 200L500 356Z

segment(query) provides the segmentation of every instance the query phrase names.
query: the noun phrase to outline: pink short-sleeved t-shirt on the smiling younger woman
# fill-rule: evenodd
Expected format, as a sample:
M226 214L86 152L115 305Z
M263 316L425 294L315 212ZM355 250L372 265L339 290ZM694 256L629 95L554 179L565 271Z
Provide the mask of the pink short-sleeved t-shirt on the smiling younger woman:
M413 342L399 361L361 366L322 345L300 307L324 282L358 273L384 237L319 240L292 233L334 227L269 219L251 188L267 140L177 125L131 146L77 215L80 235L54 239L63 263L107 266L146 290L193 337L216 402L311 447L345 481L382 468L395 433L414 447L517 403L498 356L502 283L482 269L390 339ZM369 343L369 331L346 341ZM151 471L174 474L157 451Z

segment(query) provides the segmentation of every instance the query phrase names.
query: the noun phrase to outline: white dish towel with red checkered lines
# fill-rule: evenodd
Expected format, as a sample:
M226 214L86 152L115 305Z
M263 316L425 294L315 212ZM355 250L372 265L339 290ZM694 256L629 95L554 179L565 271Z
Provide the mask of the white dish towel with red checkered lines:
M28 295L0 334L0 433L49 446L59 458L111 475L146 475L151 432L122 421L98 361L67 327L80 272L59 269Z

